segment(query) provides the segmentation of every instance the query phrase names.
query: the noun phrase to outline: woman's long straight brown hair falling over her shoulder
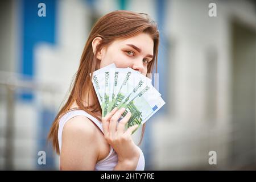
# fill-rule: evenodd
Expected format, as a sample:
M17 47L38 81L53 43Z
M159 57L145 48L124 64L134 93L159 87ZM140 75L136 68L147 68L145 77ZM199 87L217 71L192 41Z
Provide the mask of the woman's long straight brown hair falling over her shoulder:
M96 71L97 68L97 52L104 46L108 46L114 40L130 38L131 36L137 35L141 32L145 32L151 36L154 40L154 57L153 60L148 63L147 73L152 73L154 68L157 71L157 56L158 56L158 45L159 45L159 31L157 24L150 19L147 14L135 13L133 11L118 10L112 11L100 19L94 24L88 40L85 44L84 51L82 52L79 69L76 73L75 82L72 85L72 91L68 97L68 100L65 102L64 106L57 113L56 118L54 119L51 129L48 134L48 139L52 141L53 150L60 154L59 151L59 142L57 138L58 128L59 128L59 118L70 110L73 102L79 106L79 109L86 111L93 117L99 119L96 113L101 112L100 103L97 100L97 95L92 85L90 73ZM95 54L92 49L93 39L96 37L101 37L101 42L96 47ZM156 72L155 71L155 72ZM89 103L89 93L92 94L95 104L90 106L84 106L84 102ZM85 101L82 100L84 96L88 96ZM145 123L142 127L141 140L145 130Z

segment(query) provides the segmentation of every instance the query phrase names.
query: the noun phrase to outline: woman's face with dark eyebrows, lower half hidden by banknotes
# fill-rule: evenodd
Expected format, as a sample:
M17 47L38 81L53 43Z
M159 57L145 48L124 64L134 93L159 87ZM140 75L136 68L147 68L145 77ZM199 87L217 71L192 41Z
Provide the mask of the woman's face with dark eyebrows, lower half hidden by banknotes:
M154 41L150 35L141 33L127 39L118 39L102 48L100 68L115 63L118 68L130 67L146 76L147 65L153 59Z

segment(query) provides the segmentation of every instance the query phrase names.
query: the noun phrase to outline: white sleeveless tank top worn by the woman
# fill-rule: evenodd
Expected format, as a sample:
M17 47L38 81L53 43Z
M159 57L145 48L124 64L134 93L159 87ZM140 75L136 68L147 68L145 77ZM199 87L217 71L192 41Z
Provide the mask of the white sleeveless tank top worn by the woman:
M68 113L64 114L59 120L58 140L59 140L60 151L61 151L61 137L62 137L62 131L63 131L64 125L69 119L71 119L77 115L84 115L85 117L89 118L91 121L93 121L98 126L98 128L102 131L102 133L104 133L101 122L98 121L98 119L96 119L92 115L86 113L84 110L71 110ZM143 171L144 166L145 166L145 159L144 159L144 155L143 155L141 148L139 148L139 151L141 152L141 155L139 156L137 168L135 170ZM110 146L110 152L109 152L108 156L106 156L106 158L104 158L96 163L95 170L96 171L112 171L114 169L114 167L117 165L117 162L118 162L117 154L113 150L112 146Z

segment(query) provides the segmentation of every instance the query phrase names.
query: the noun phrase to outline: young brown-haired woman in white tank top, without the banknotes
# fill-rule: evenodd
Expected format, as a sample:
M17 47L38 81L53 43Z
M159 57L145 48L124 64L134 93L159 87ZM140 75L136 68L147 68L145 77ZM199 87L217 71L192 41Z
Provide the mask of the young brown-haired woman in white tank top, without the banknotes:
M125 109L115 108L101 118L90 73L115 63L118 68L130 67L147 75L154 64L156 68L158 45L157 25L147 14L113 11L94 24L70 96L49 131L53 149L60 155L60 169L144 169L143 152L131 138L138 126L125 130L131 114L117 126Z

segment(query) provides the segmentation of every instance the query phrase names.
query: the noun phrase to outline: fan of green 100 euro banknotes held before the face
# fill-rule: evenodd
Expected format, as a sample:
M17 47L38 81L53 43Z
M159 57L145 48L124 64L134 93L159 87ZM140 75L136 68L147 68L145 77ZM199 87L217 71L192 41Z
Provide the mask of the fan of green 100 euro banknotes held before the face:
M126 129L142 125L165 104L150 78L131 68L116 68L114 63L94 71L92 83L101 104L102 117L114 107L125 107L120 119L130 111Z

